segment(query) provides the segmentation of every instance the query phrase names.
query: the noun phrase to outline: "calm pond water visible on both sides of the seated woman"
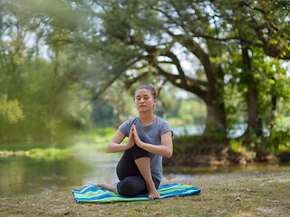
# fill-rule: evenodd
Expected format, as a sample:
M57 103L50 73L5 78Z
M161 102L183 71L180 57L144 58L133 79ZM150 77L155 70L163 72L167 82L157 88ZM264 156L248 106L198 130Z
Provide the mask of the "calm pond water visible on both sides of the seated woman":
M200 134L203 127L174 127L175 135ZM237 133L236 133L237 135ZM44 193L55 191L71 191L81 189L87 184L113 183L118 178L115 166L120 154L104 154L93 148L93 141L82 141L82 146L74 149L72 156L32 157L32 156L0 156L0 198ZM71 143L52 144L9 144L1 145L1 150L29 150L34 147L73 146ZM198 168L175 167L166 168L163 181L190 180L192 182L221 175L218 179L238 172L256 170L290 169L289 165L232 165ZM211 175L211 176L210 176Z

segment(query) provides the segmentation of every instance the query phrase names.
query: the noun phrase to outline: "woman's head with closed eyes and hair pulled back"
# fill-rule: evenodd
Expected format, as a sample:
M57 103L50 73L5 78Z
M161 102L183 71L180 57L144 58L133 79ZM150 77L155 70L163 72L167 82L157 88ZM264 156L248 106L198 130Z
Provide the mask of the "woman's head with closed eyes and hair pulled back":
M135 106L141 111L153 110L157 103L157 99L153 99L150 90L140 89L135 93Z

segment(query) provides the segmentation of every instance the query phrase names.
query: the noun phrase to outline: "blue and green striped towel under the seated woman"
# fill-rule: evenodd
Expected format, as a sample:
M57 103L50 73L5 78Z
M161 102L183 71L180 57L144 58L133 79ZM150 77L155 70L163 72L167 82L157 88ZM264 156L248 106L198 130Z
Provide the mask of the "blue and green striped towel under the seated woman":
M151 200L147 197L148 193L133 197L124 197L118 193L99 188L95 184L84 186L81 190L72 190L72 192L77 203L111 203ZM194 186L185 184L164 184L160 185L158 192L161 198L166 198L176 195L185 196L200 193L200 190Z

